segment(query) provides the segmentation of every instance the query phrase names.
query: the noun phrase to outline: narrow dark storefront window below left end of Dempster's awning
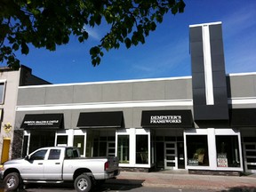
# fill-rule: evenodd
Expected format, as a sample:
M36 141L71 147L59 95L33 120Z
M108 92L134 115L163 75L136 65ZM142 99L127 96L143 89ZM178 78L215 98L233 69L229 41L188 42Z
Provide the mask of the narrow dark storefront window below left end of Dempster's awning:
M136 135L136 164L148 164L148 135Z

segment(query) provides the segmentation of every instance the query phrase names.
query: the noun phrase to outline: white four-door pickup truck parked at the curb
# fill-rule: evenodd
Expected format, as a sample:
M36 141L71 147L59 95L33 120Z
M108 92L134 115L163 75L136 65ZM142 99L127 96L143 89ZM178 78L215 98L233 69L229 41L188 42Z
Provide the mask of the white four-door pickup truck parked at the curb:
M27 183L74 182L76 191L90 191L93 184L119 174L117 157L81 158L73 147L39 148L24 159L10 160L1 168L4 187L12 191Z

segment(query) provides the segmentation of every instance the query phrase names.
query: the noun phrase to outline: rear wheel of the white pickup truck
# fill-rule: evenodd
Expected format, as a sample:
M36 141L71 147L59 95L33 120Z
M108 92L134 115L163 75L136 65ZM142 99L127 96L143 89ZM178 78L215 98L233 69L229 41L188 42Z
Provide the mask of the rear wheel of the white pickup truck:
M88 192L92 188L92 180L88 175L81 174L76 177L74 186L77 192Z

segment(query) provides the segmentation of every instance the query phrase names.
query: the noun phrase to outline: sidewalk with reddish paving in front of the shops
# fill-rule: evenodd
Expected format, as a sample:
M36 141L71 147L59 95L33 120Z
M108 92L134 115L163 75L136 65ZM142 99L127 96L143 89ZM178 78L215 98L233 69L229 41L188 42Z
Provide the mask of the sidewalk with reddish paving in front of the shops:
M200 188L214 191L256 192L256 174L248 176L196 175L188 172L121 172L112 184L147 187Z

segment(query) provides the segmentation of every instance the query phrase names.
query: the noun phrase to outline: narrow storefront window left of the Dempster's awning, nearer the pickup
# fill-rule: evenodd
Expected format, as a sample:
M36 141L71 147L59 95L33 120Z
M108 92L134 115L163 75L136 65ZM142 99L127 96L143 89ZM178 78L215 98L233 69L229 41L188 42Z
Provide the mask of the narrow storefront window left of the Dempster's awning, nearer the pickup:
M117 156L120 164L129 164L129 135L118 135Z

